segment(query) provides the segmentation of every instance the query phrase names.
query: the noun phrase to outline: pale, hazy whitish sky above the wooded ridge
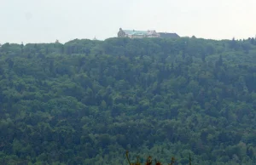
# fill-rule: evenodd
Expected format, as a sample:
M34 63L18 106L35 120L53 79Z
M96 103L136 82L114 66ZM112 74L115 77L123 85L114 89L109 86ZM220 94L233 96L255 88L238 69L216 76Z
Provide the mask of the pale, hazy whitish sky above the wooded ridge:
M212 39L256 35L256 0L0 0L0 43L116 37L119 27Z

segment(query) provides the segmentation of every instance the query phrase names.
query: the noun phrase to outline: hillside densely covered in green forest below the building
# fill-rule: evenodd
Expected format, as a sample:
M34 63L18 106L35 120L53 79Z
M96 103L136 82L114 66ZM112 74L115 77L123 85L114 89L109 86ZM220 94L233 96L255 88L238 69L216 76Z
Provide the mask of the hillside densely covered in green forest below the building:
M0 48L0 164L256 162L256 41L181 37Z

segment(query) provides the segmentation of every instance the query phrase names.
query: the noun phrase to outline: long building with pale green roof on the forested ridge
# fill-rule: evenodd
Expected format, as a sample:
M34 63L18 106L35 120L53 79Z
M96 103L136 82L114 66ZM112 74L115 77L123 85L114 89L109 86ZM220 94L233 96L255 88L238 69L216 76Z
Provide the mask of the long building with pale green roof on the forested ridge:
M167 32L156 32L151 31L135 31L135 30L123 30L119 28L118 37L130 37L130 38L143 38L143 37L179 37L176 33L167 33Z

